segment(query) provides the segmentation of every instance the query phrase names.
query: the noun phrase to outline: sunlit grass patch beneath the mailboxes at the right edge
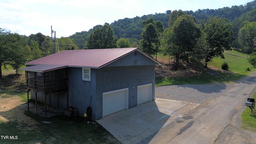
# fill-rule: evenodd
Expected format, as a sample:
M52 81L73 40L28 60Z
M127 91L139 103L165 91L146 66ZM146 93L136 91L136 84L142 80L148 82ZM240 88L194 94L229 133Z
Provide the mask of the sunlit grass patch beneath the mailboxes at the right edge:
M256 99L256 92L252 98ZM256 132L256 110L252 110L252 113L249 107L244 110L242 113L242 128Z

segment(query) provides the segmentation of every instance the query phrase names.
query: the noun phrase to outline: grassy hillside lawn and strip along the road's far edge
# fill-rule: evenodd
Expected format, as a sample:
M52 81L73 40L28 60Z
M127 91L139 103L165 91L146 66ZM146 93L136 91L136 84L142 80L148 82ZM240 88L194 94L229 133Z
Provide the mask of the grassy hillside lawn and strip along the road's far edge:
M230 54L231 53L231 54ZM212 83L227 83L238 80L245 75L255 71L251 64L246 60L246 54L230 50L224 53L225 59L214 58L208 65L216 66L221 69L223 62L227 62L229 70L236 72L236 74L220 73L220 75L202 74L196 77L156 77L156 86L170 85L170 84L212 84ZM159 55L159 58L164 56ZM168 59L168 56L165 56ZM251 71L246 71L250 68Z

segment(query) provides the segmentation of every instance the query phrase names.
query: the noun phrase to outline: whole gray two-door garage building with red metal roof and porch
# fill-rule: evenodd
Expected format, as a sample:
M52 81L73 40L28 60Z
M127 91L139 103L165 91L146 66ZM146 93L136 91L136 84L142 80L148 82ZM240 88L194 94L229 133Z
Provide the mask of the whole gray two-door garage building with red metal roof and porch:
M154 100L155 66L138 48L64 50L26 63L31 98L56 108L77 108L90 119Z

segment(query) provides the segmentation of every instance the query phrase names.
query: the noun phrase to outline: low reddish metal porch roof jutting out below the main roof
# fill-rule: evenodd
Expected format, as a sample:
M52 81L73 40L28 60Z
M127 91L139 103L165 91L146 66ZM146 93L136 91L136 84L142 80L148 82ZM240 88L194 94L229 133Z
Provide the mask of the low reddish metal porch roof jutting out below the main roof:
M30 72L48 72L51 70L57 70L60 68L66 68L65 65L49 65L49 64L38 64L34 66L27 66L24 68L19 68L19 70L25 70Z

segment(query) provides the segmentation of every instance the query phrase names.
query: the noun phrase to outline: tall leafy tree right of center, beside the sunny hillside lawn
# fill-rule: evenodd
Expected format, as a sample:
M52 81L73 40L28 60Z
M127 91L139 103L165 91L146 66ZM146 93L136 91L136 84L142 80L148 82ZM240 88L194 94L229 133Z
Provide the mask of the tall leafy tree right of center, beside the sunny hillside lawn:
M232 39L231 25L226 22L226 19L213 17L207 20L205 24L200 21L200 27L206 34L206 42L209 46L205 55L205 67L207 68L207 64L212 58L218 56L224 58L224 50L230 49L229 42Z

